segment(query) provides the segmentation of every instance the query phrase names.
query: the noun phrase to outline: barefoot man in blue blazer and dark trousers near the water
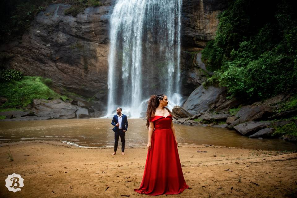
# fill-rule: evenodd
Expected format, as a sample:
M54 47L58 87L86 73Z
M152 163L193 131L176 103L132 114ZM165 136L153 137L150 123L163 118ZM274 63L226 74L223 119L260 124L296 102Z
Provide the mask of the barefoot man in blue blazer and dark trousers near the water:
M117 108L117 114L112 118L111 124L114 125L112 129L114 131L114 153L117 154L118 149L118 138L121 136L122 142L122 155L125 155L125 132L128 129L128 120L127 115L122 114L122 108Z

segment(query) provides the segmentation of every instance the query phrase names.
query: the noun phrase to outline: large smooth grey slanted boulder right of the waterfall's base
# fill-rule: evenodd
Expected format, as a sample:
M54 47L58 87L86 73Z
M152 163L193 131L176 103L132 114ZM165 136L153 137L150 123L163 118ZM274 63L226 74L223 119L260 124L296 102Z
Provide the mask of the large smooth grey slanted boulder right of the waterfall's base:
M220 102L225 95L225 87L209 86L209 88L205 89L203 85L200 85L187 98L187 101L183 104L183 109L193 115L206 113L211 105Z

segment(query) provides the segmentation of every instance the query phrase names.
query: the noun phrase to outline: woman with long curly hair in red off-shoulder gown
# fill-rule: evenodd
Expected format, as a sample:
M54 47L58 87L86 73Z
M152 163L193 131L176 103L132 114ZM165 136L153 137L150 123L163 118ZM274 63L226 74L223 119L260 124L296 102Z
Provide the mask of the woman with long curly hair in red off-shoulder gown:
M183 178L172 114L167 105L164 94L153 95L148 102L148 154L142 182L134 189L140 194L179 194L189 187Z

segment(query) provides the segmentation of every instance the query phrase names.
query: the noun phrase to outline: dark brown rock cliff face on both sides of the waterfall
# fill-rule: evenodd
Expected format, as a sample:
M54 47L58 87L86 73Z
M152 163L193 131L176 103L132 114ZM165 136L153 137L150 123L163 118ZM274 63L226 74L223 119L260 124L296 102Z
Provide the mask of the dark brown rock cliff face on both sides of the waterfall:
M1 52L14 56L5 67L50 78L62 94L67 90L94 96L103 108L107 100L109 18L116 1L101 2L103 6L88 7L76 17L64 15L70 5L49 5L35 17L21 41L0 47ZM216 16L225 7L225 0L183 0L181 69L185 96L206 79L200 70L205 67L199 53L214 38ZM188 51L195 51L195 56Z

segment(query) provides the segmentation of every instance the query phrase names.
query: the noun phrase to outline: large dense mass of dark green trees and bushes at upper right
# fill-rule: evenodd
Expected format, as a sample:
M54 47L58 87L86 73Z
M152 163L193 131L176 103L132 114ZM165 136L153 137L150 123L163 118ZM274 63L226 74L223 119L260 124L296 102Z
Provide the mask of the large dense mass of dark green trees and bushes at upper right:
M207 87L226 86L233 97L259 100L297 87L295 3L230 1L218 15L215 40L202 50L214 75ZM267 12L263 12L266 10Z

